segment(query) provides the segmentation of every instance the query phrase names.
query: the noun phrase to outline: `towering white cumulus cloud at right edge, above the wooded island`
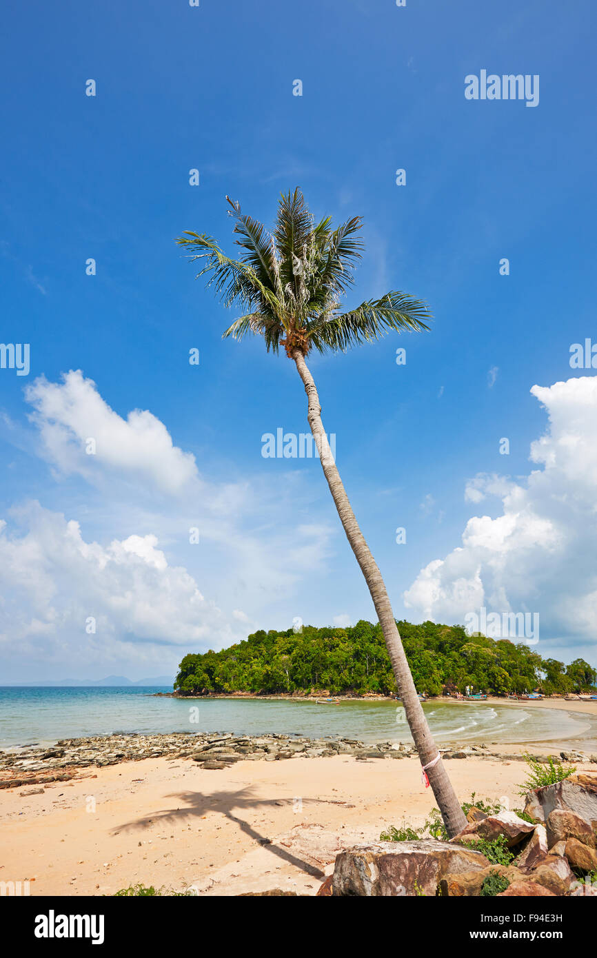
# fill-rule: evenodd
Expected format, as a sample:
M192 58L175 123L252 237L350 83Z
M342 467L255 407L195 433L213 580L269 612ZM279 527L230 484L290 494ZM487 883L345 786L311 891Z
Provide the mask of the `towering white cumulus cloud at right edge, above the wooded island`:
M516 480L480 474L466 499L501 499L501 514L469 519L462 545L433 559L404 592L423 618L468 612L540 613L543 637L594 641L597 621L597 376L533 386L549 423L531 445L541 468Z

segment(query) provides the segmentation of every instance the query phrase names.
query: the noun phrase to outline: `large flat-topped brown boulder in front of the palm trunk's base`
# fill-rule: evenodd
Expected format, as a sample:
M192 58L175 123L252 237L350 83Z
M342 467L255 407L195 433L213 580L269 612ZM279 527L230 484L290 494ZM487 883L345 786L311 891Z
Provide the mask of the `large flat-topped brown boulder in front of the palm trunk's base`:
M487 868L485 855L433 838L357 845L336 855L334 896L435 896L441 879Z

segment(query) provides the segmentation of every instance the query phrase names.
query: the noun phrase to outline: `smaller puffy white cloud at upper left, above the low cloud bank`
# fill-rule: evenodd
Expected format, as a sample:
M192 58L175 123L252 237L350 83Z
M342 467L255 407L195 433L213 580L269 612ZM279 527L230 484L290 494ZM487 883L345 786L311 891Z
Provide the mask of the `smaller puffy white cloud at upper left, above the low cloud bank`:
M169 493L197 478L195 456L173 445L163 422L147 409L134 409L123 419L80 370L63 374L60 383L40 376L25 397L34 407L31 419L44 454L62 473L93 479L100 467L131 473Z

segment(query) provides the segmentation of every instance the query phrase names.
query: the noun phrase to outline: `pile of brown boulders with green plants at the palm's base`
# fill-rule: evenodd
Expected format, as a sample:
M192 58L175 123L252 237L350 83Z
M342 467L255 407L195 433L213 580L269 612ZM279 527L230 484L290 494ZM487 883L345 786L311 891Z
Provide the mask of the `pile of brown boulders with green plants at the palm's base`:
M317 895L597 897L594 774L527 792L524 817L471 806L467 821L448 841L379 841L342 851Z

